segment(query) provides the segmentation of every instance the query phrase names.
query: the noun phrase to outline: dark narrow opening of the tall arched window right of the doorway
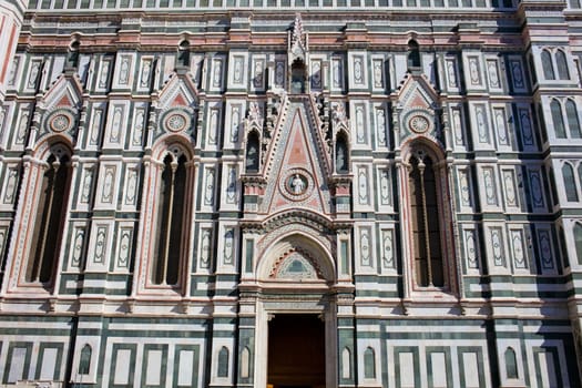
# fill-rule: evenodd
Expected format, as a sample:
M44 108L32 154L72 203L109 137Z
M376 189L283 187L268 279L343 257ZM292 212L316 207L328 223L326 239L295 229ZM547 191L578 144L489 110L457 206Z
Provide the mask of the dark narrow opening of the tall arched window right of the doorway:
M439 221L442 191L437 190L435 162L420 149L408 165L415 282L419 287L445 286Z

